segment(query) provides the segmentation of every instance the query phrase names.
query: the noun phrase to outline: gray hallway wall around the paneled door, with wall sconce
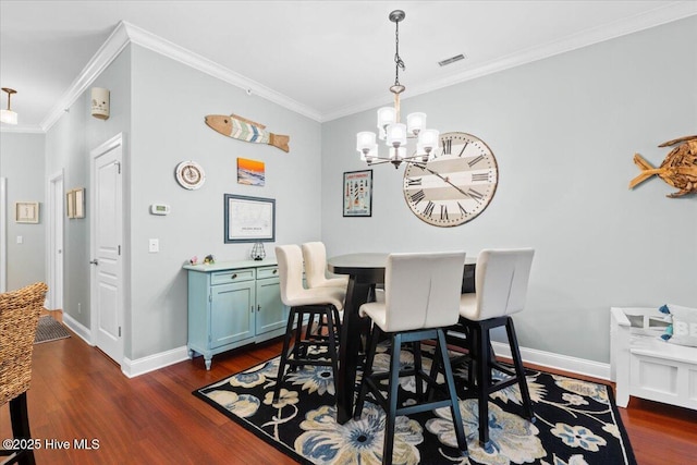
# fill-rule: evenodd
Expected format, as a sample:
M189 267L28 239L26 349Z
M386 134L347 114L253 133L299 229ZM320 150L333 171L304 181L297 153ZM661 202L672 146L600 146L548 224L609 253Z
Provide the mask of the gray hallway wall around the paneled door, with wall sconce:
M90 115L90 89L110 89L110 118ZM85 218L63 222L63 311L89 328L89 151L131 127L131 48L126 47L46 134L46 174L63 169L65 191L85 187ZM126 137L127 146L127 137Z

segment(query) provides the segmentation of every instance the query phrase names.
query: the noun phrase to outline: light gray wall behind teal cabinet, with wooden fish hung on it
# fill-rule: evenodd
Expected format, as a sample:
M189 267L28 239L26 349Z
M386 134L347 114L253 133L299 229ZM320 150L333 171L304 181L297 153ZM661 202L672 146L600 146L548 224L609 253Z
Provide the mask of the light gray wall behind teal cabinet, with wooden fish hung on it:
M186 273L192 256L247 259L253 244L223 243L223 194L276 199L273 246L319 238L320 124L180 62L133 46L131 136L131 351L132 359L186 344ZM216 133L206 114L236 113L291 136L291 151ZM266 163L266 185L237 184L237 157ZM174 169L184 160L206 172L196 191L182 188ZM152 216L152 203L171 213ZM159 238L160 252L148 253Z

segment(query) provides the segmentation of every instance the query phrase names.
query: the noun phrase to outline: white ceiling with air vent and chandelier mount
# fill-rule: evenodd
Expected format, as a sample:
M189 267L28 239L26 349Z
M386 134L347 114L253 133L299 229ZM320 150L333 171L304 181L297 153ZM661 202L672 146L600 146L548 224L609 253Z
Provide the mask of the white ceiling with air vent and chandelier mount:
M317 121L377 107L391 99L395 9L408 98L697 14L697 1L2 0L0 84L20 118L2 130L47 131L120 22Z

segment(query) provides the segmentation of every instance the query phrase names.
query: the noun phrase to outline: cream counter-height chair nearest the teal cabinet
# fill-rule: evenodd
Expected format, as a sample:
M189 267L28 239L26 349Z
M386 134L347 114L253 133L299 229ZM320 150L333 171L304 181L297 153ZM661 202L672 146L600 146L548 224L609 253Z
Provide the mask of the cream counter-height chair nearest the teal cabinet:
M329 366L332 369L334 380L337 379L339 334L334 332L334 329L339 328L340 323L334 322L334 315L343 308L345 292L342 293L334 287L304 289L303 255L297 245L277 246L276 258L279 264L281 301L290 307L279 374L273 390L273 400L278 401L285 378L286 365L293 370L305 365ZM328 335L318 338L306 332L303 338L303 320L306 316L309 317L309 321L313 321L316 316L327 318ZM291 345L293 338L294 343ZM308 350L311 346L327 346L327 357L309 357Z

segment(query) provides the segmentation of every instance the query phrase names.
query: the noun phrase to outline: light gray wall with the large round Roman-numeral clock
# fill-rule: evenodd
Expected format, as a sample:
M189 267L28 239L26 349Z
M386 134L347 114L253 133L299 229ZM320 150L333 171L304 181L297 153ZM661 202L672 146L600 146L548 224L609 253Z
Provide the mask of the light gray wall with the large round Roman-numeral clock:
M408 96L408 71L401 79ZM386 84L387 85L387 84ZM374 168L371 218L343 218L342 173L365 169L355 134L375 111L322 125L322 234L329 255L356 250L536 248L523 346L609 360L609 307L697 306L697 196L669 199L658 179L628 191L632 158L660 164L665 140L697 127L697 17L403 100L429 126L492 148L488 209L429 227L402 195L403 169Z

